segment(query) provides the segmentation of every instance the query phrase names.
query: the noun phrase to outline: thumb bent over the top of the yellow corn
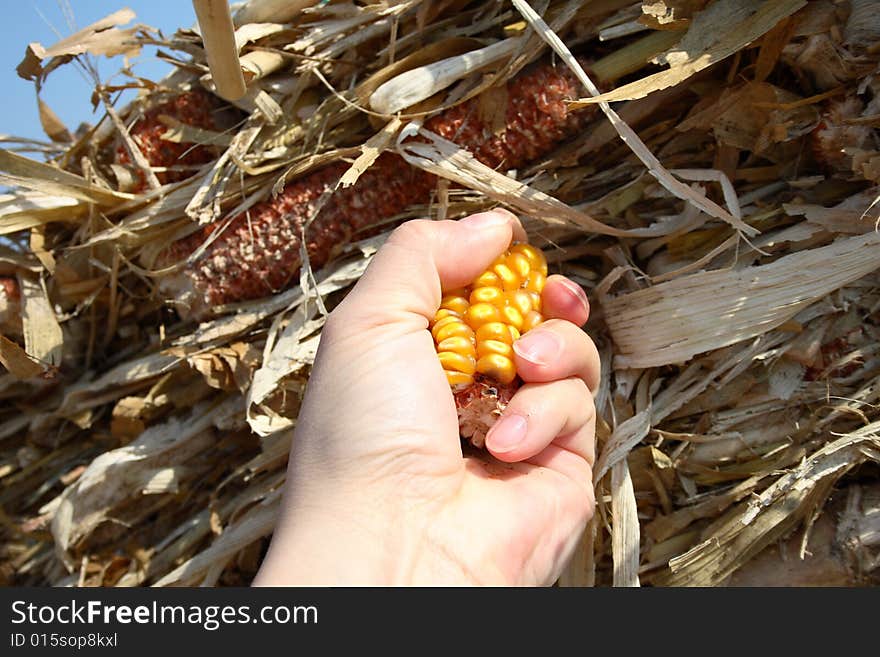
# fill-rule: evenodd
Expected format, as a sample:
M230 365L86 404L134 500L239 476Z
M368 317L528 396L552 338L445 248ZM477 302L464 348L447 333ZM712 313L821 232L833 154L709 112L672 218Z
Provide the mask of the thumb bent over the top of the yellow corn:
M391 233L334 314L349 326L396 321L401 312L430 319L441 289L469 284L514 239L525 240L525 231L506 210L460 221L408 221Z

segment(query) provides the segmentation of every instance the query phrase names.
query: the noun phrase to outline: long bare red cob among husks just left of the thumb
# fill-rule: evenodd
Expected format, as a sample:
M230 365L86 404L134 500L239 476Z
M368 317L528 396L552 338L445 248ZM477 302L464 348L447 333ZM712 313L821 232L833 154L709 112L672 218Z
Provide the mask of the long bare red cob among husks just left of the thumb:
M162 289L196 316L213 305L257 299L287 287L299 272L305 222L321 195L348 165L324 167L287 185L275 198L236 217L192 268L165 279ZM361 228L426 198L433 176L398 156L380 156L357 184L339 190L307 231L309 261L317 269ZM208 225L172 244L162 265L189 256L215 230Z

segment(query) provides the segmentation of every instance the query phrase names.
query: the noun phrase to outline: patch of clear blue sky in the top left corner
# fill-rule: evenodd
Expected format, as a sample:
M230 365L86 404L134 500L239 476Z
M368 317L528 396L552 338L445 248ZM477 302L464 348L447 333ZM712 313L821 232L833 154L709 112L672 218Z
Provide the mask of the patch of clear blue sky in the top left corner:
M74 26L68 23L65 6L72 10ZM5 97L0 107L0 133L41 140L47 138L37 116L33 83L21 79L15 72L28 43L37 41L49 46L124 7L137 14L128 26L143 23L162 30L166 35L173 34L178 27L193 25L196 20L189 0L3 0L2 7L0 89L4 90ZM155 80L168 72L169 65L154 55L155 48L144 49L134 60L135 73ZM100 58L98 70L101 78L106 81L116 73L121 61L121 58L117 61ZM120 76L114 81L123 83L125 78ZM81 122L93 124L101 117L100 109L98 113L92 112L91 89L91 84L71 63L49 76L41 96L72 132Z

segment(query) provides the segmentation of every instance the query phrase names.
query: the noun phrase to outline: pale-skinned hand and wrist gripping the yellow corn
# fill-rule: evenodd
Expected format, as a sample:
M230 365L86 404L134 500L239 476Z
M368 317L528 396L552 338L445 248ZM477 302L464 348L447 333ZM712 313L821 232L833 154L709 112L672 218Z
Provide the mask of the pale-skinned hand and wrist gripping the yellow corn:
M515 344L525 382L463 457L428 322L513 240L503 210L411 221L330 314L255 585L549 585L593 514L599 356L583 290L554 275Z

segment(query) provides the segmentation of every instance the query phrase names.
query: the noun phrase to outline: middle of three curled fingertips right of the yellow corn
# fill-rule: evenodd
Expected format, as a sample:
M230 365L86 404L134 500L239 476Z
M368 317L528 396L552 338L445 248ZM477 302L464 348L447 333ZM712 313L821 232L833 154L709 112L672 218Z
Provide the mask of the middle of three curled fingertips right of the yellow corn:
M516 371L526 383L579 377L590 392L599 387L599 352L571 322L550 319L513 343Z

